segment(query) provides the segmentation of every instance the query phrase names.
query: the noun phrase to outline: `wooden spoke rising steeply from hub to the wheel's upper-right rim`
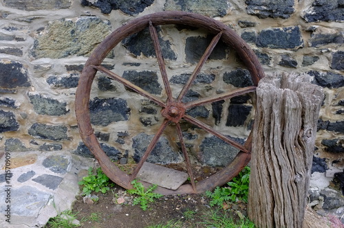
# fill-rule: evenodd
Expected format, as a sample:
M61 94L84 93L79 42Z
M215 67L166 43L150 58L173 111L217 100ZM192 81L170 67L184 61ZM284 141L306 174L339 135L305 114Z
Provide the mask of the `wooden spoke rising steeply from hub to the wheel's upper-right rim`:
M204 62L206 62L208 57L211 55L211 52L213 52L213 49L217 45L217 42L219 42L219 38L221 38L221 36L222 36L222 31L219 32L216 36L214 36L213 40L211 41L211 43L206 48L206 51L204 52L202 58L200 59L197 66L193 70L193 73L191 74L188 82L186 82L182 91L180 92L180 94L178 96L178 102L180 102L184 98L184 95L186 94L186 92L189 91L191 84L193 83L193 80L195 80L198 73L200 73L200 70L202 69Z

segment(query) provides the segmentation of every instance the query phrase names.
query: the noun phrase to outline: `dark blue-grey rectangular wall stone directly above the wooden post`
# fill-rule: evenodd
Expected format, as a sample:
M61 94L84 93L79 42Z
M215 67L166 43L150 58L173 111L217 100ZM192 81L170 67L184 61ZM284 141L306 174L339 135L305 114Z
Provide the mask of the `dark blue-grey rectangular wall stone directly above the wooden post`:
M292 26L261 30L257 38L257 46L274 49L299 49L303 47L300 28Z

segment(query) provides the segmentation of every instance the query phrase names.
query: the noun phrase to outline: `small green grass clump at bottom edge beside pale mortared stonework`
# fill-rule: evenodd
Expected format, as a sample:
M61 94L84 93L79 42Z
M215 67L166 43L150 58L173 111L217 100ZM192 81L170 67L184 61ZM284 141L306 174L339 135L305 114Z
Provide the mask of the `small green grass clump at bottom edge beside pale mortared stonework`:
M76 213L77 214L77 213ZM72 211L65 210L58 214L58 216L54 218L50 218L47 222L48 227L50 228L74 228L80 227L80 223L76 222L76 214L72 214ZM80 221L80 222L83 222Z

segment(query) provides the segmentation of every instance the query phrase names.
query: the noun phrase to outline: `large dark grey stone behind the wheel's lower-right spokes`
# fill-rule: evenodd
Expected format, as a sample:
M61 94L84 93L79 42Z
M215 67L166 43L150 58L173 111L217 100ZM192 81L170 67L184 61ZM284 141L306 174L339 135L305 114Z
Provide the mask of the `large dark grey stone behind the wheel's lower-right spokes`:
M229 138L241 144L244 143L244 139ZM215 136L206 137L200 144L200 158L202 163L207 166L227 166L237 156L238 152L239 149Z

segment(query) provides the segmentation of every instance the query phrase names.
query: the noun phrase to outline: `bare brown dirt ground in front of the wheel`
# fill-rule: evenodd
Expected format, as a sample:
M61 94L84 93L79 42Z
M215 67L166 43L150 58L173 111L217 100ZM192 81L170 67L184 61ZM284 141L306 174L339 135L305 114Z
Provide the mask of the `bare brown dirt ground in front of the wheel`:
M106 194L96 195L99 201L93 205L85 204L83 196L78 197L74 203L72 211L73 214L78 213L76 217L81 221L81 227L140 228L180 221L176 227L202 228L206 227L202 222L208 218L208 213L217 209L208 205L209 199L204 194L162 196L155 199L147 211L143 211L139 205L131 205L132 198L125 194L122 187L114 187ZM125 203L117 203L120 196L126 198ZM219 211L236 219L239 218L238 213L246 214L246 205L228 205L228 209Z

